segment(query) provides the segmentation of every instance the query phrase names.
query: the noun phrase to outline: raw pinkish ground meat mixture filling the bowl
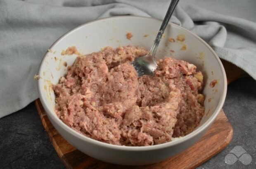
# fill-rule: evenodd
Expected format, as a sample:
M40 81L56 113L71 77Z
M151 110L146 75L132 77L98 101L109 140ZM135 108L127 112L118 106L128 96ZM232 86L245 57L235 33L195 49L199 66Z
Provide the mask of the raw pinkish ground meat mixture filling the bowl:
M77 132L109 144L150 146L189 134L204 115L203 76L196 66L166 57L154 76L130 64L142 47L106 47L78 56L54 85L56 114Z

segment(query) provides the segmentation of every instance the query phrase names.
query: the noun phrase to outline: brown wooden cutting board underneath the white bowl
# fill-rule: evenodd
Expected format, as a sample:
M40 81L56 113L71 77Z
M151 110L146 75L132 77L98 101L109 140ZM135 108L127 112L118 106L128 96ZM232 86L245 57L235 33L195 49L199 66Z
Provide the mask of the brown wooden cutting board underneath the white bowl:
M223 61L223 65L228 77L228 83L240 77L248 76L242 69L231 63ZM35 104L53 147L68 169L191 169L206 162L223 150L228 146L233 136L232 126L222 110L204 136L196 144L178 155L166 161L145 166L114 165L89 157L69 144L53 127L39 99L35 101Z

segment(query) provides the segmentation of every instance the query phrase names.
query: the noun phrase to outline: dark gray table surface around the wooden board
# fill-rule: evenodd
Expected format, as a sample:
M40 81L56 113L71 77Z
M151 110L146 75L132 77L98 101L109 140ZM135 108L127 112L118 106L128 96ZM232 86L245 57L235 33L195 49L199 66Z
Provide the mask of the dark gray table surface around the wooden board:
M198 168L255 169L256 81L244 78L231 83L223 109L233 127L233 139L218 155ZM250 164L244 165L239 160L232 165L225 163L225 156L235 146L241 146L251 155ZM0 169L2 168L65 168L47 137L34 103L0 119Z

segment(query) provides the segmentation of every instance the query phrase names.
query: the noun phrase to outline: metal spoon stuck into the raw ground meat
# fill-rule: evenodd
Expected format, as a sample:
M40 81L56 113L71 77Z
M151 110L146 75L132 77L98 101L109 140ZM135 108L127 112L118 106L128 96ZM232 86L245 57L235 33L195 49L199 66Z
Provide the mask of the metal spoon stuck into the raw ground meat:
M145 55L145 56L141 56L141 57L133 60L133 62L131 63L133 65L133 67L135 68L135 70L137 71L138 76L142 76L144 74L147 74L147 75L154 74L154 70L157 67L156 59L155 59L156 49L159 45L159 42L164 33L164 30L171 18L171 15L173 14L173 11L174 11L176 5L178 4L178 2L179 2L179 0L171 0L171 4L168 8L168 11L164 17L162 25L158 31L156 39L154 40L154 44L153 44L152 48L150 49L149 53L147 53L147 55Z

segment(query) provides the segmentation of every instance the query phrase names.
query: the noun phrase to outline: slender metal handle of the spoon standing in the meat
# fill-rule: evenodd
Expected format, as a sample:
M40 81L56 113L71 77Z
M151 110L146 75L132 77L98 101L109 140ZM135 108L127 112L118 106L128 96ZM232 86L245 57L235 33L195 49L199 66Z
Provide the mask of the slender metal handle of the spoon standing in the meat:
M151 56L153 56L153 60L154 60L154 61L155 61L156 49L157 49L157 47L158 47L158 45L159 45L159 42L160 42L161 37L162 37L162 35L163 35L163 33L164 33L164 30L165 30L166 26L168 25L168 22L169 22L169 20L170 20L172 14L173 14L173 11L174 11L175 7L176 7L177 4L178 4L178 2L179 2L179 0L171 0L171 4L170 4L170 6L169 6L169 8L168 8L168 10L167 10L167 12L166 12L166 15L165 15L165 17L164 17L164 20L163 20L163 22L162 22L162 25L161 25L161 27L160 27L160 29L159 29L159 31L158 31L158 34L157 34L157 36L156 36L156 39L155 39L155 41L154 41L154 44L153 44L152 48L151 48L150 51L149 51L149 53L151 54Z

